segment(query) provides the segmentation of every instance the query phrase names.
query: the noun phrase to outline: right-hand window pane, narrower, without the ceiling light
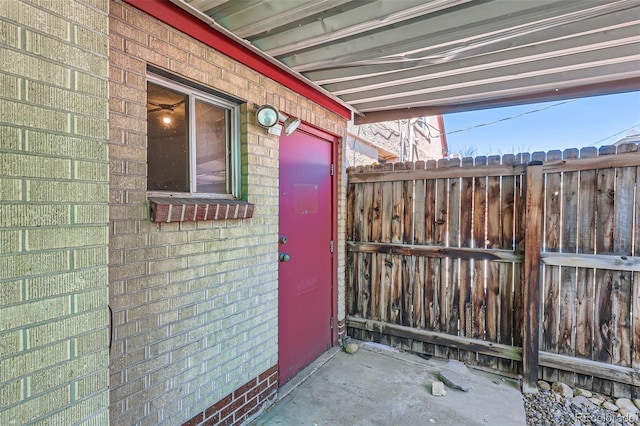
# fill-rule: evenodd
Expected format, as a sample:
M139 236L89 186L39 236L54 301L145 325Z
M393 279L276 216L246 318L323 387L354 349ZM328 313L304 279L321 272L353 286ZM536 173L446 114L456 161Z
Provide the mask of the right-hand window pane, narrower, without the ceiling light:
M195 108L196 192L226 194L228 112L199 99Z

